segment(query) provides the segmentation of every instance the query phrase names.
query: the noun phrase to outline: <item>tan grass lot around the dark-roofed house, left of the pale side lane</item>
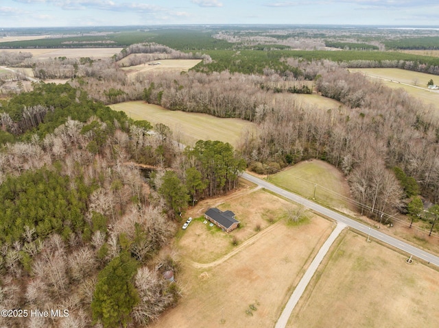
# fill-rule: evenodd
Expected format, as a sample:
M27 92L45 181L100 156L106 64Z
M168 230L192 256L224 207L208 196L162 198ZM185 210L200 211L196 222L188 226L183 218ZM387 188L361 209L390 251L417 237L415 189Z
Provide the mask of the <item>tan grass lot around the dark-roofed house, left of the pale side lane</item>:
M235 207L241 202L256 208L263 207L259 204L261 200L283 203L263 194L257 191L255 195L249 194L248 199L243 196L227 203L243 220L244 212ZM268 207L273 213L281 211L274 204ZM259 213L245 220L256 223L261 217L263 214ZM150 327L273 327L292 288L331 233L333 224L317 216L302 225L287 225L280 220L248 240L252 242L241 242L232 248L230 236L222 231L211 234L208 227L195 220L176 240L182 254L182 270L176 279L183 286L184 295L176 307ZM235 232L240 231L230 235ZM219 242L221 239L225 242ZM216 248L236 252L213 266L196 265L192 262L194 255L189 255L196 250L195 257L206 259L209 255L206 257L202 252L210 253ZM252 315L246 314L250 305L257 309L249 311Z

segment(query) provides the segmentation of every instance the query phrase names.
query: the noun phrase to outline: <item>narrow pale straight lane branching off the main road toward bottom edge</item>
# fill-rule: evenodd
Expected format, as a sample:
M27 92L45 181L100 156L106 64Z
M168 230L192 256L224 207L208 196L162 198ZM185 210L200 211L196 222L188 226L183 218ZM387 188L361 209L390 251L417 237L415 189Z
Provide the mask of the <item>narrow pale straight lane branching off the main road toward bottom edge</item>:
M326 242L322 244L322 247L320 247L320 250L318 251L316 257L314 257L313 262L311 262L311 264L309 265L307 272L305 272L305 274L302 276L302 279L300 279L298 285L294 289L293 294L291 295L291 297L289 297L287 305L285 305L285 308L283 309L281 316L278 318L276 326L274 328L285 328L289 316L291 316L294 307L296 307L297 302L299 301L300 297L302 297L303 292L305 292L305 288L307 288L309 281L311 281L314 273L316 273L316 270L322 262L324 255L327 255L329 248L345 227L346 225L344 223L337 223L337 227L335 227L331 235L329 235Z

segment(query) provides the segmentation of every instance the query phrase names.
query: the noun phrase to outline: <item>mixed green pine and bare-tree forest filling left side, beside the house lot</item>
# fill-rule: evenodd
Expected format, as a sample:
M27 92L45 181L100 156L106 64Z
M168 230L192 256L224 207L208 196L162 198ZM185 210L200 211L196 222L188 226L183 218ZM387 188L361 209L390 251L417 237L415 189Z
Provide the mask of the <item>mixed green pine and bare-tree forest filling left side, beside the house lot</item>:
M35 84L1 111L0 305L69 317L0 324L141 325L174 305L180 286L162 275L178 275L178 257L162 247L189 201L235 188L246 164L233 147L181 151L166 126L147 134L69 84ZM156 168L150 180L139 164Z

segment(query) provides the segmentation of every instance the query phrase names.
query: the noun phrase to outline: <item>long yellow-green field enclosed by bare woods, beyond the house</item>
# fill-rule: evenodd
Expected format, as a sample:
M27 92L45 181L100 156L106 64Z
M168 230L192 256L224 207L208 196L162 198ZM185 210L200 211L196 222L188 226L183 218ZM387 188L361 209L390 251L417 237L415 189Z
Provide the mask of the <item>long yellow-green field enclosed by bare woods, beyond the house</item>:
M242 131L256 129L254 123L239 118L218 118L208 114L166 110L143 101L127 101L110 105L113 110L123 110L135 120L146 120L153 124L163 123L171 128L174 136L183 144L198 140L220 140L237 146Z

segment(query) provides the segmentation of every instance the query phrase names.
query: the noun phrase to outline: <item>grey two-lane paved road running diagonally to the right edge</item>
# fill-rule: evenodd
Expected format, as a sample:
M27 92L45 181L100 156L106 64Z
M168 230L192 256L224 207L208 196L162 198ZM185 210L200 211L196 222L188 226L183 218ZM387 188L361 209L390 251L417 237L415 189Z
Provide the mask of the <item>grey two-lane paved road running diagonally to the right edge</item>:
M422 260L425 260L427 262L435 264L436 266L439 266L439 257L437 257L436 255L432 255L430 253L427 253L426 251L423 251L422 249L418 249L417 247L407 244L406 242L403 242L401 240L383 234L382 232L377 231L375 229L371 229L367 225L352 220L351 218L348 218L347 216L344 216L340 213L334 212L333 210L329 210L327 209L327 207L323 207L322 205L313 203L312 201L309 201L308 199L293 194L292 192L288 192L286 190L283 190L282 188L276 187L270 184L270 182L264 181L257 177L253 177L248 173L243 173L241 177L267 190L275 192L276 194L279 194L287 199L295 201L296 203L300 203L308 207L309 209L313 210L314 212L332 218L337 222L342 222L348 225L349 227L352 227L353 229L363 232L364 234L369 234L370 238L376 238L378 240L381 240L382 242L385 242L386 244L390 244L391 246L396 247L397 249L401 249L401 251L405 251L409 255L414 255L415 257L418 257Z

